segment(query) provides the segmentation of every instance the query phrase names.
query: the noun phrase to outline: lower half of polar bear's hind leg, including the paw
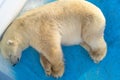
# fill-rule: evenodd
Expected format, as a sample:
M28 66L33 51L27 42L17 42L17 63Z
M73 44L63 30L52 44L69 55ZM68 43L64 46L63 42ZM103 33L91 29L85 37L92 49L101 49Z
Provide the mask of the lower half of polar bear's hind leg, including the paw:
M84 39L85 44L82 46L89 52L90 57L94 60L95 63L99 63L105 56L107 51L106 42L103 36L98 37L95 35L90 36L87 39Z

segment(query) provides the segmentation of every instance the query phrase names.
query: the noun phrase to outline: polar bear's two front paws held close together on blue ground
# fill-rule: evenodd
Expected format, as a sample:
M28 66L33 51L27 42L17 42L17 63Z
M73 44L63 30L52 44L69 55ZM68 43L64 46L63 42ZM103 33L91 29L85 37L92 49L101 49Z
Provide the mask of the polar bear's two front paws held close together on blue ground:
M47 76L52 75L55 78L61 77L64 73L64 62L52 65L44 56L41 55L41 64Z

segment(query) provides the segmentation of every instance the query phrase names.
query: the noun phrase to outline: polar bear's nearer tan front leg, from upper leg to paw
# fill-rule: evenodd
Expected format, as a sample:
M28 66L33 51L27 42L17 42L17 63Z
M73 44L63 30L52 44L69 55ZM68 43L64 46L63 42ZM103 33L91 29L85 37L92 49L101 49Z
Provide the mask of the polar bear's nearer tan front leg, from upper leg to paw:
M64 73L64 61L60 35L57 35L56 33L52 34L51 36L45 35L45 37L47 40L41 41L40 43L41 54L44 56L41 58L43 67L44 69L51 69L47 72L47 75L51 74L56 78L61 77Z

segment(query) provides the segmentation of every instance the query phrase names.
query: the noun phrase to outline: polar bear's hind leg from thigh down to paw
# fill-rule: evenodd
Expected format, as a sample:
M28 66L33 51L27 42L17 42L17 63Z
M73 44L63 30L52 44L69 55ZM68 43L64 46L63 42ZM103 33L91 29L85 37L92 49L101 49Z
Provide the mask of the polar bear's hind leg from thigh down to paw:
M90 24L82 27L83 46L90 54L95 63L100 62L105 56L107 45L103 37L104 22L92 21Z

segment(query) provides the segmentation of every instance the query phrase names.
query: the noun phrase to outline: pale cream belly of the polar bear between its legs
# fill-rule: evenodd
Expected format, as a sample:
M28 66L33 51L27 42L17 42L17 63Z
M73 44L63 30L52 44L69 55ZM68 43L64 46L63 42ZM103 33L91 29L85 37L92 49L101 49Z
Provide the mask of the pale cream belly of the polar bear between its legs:
M80 25L67 25L62 28L62 45L76 45L81 42Z

